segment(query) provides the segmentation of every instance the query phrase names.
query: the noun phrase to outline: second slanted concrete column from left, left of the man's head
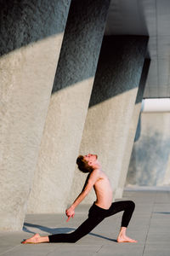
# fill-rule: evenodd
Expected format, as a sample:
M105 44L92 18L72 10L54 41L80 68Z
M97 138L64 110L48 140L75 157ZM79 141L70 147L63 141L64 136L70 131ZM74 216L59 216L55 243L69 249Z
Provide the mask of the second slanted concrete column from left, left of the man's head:
M65 212L109 3L71 2L28 212Z

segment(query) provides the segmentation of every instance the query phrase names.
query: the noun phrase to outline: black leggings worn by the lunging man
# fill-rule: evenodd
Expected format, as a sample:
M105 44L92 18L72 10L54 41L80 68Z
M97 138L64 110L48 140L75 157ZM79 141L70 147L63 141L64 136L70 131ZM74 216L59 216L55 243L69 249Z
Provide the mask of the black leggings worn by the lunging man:
M104 219L111 215L116 214L117 212L123 212L122 215L122 227L127 227L129 221L133 215L134 211L134 202L133 201L116 201L111 204L111 207L108 210L100 208L94 205L89 209L88 219L85 220L77 230L69 234L55 234L48 236L49 242L76 242L86 236L91 230Z

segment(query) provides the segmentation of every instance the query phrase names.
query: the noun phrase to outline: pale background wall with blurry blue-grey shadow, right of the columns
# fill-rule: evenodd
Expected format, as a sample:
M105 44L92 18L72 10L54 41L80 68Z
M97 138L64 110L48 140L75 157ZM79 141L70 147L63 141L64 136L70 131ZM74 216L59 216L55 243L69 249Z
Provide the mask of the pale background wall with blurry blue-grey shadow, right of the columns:
M170 113L141 113L127 185L170 185Z

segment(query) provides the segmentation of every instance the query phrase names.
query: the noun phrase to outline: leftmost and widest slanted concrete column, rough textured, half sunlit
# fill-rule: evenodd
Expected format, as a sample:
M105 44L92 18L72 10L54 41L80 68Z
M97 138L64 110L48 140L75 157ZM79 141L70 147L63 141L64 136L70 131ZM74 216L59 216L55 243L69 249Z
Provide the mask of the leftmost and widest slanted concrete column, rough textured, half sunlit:
M20 230L70 1L1 1L0 230Z

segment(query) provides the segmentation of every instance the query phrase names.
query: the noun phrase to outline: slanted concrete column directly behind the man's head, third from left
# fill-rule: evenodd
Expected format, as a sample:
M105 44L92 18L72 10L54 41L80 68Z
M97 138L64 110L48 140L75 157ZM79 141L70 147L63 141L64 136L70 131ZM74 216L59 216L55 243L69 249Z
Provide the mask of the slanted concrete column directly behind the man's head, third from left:
M99 155L114 189L121 172L123 150L144 64L147 37L104 38L94 88L84 126L80 154ZM81 174L75 173L72 201L81 191ZM92 202L94 193L84 203Z

